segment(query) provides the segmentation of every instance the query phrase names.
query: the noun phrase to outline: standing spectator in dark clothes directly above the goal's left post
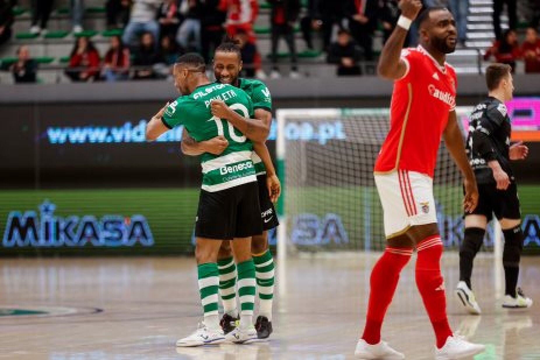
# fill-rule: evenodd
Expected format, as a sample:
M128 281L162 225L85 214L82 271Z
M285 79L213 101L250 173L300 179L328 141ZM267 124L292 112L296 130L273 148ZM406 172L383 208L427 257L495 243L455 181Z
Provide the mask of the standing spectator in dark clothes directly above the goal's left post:
M268 0L268 3L272 6L270 13L272 73L270 76L272 78L281 77L277 63L279 39L283 37L291 53L290 76L298 78L300 75L298 73L298 58L296 57L294 41L294 25L300 14L300 0Z

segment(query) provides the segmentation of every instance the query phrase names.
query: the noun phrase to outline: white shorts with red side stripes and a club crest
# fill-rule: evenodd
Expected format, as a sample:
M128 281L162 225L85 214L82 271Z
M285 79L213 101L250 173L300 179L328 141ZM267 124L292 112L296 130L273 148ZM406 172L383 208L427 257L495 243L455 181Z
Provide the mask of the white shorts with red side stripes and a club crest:
M410 226L437 222L433 179L414 171L375 174L384 214L384 235L394 237Z

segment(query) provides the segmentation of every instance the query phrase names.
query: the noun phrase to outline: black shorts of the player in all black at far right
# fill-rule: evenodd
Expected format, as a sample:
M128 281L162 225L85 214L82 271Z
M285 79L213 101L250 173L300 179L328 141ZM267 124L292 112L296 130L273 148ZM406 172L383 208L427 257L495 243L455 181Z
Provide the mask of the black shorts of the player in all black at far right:
M506 190L497 190L495 183L478 184L478 194L478 206L471 214L484 215L488 222L494 213L497 219L521 219L515 182L511 182Z

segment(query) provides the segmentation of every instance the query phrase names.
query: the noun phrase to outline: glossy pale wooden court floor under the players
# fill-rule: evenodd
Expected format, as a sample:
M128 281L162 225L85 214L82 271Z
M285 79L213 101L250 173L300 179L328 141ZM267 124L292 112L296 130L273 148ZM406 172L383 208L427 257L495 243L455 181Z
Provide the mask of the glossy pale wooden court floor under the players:
M0 259L0 359L354 359L376 257L289 258L286 279L277 280L284 291L276 294L269 341L179 350L177 338L201 320L193 259ZM401 276L383 339L408 359L433 359L434 336L411 263ZM457 254L444 255L450 323L487 344L475 360L540 359L540 259L522 262L521 286L535 300L528 310L500 307L492 263L490 254L476 260L473 287L483 314L469 316L454 294Z

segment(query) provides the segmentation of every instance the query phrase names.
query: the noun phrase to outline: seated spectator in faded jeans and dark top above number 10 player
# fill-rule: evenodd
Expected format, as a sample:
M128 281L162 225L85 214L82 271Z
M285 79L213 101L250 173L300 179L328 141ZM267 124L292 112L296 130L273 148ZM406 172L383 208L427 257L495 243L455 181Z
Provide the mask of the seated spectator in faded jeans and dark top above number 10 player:
M186 51L201 49L201 12L203 6L200 0L181 0L180 13L184 15L184 21L178 29L176 40ZM193 39L193 42L190 42Z

